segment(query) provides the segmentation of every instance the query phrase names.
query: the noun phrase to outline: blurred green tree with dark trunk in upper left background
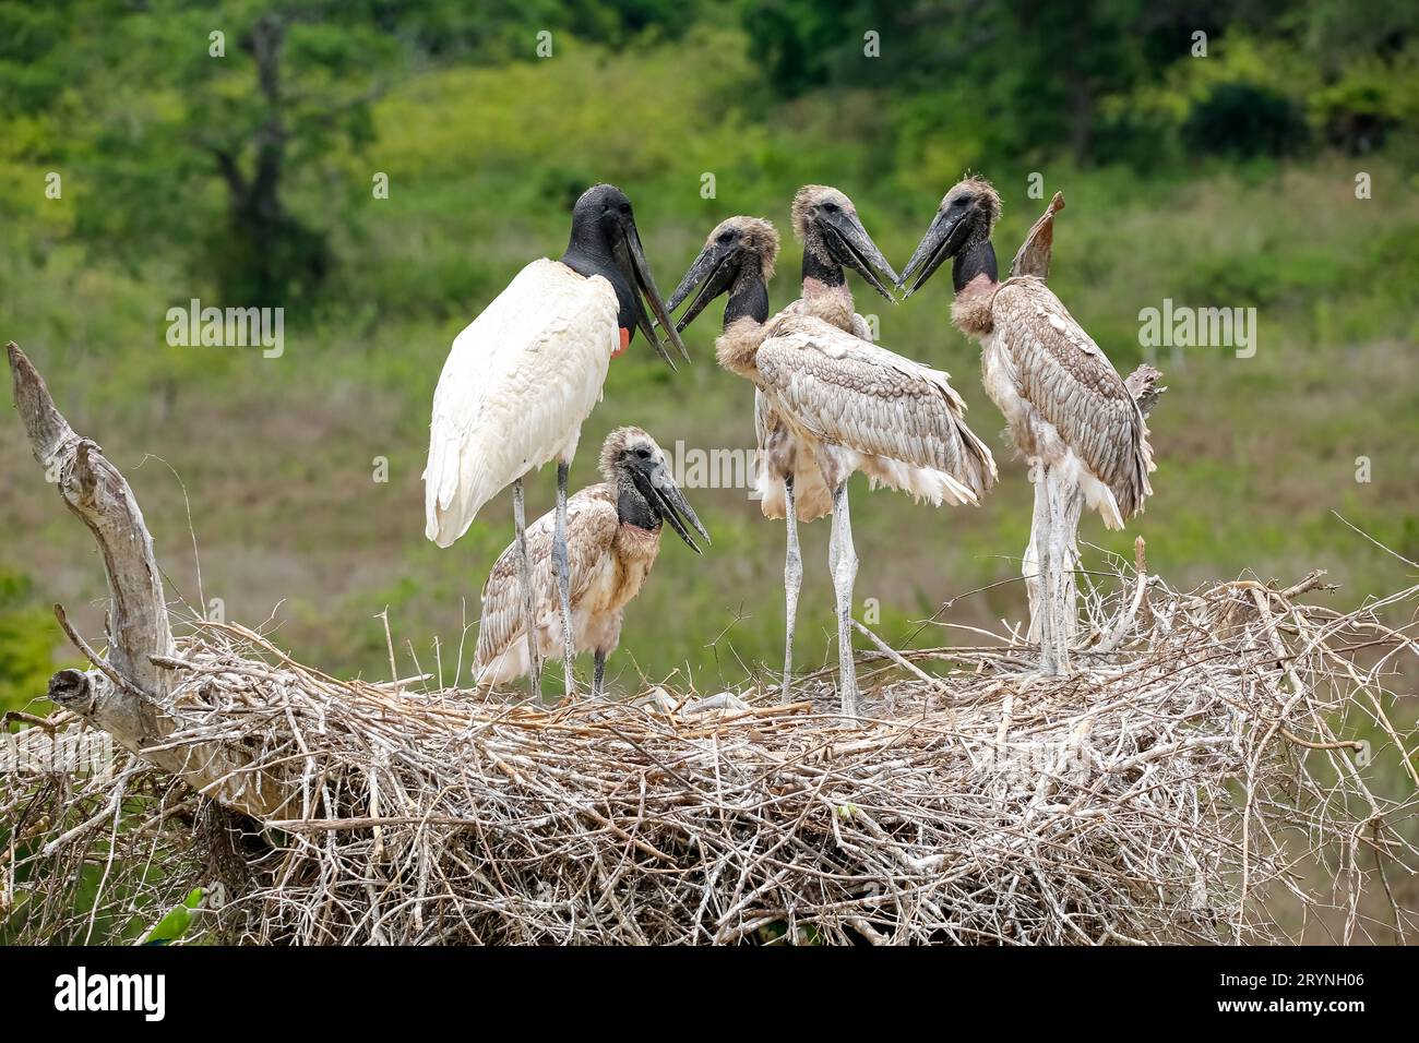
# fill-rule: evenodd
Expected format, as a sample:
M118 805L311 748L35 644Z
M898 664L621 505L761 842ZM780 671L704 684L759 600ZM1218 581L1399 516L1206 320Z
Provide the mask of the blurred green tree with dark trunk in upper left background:
M228 299L281 304L329 267L325 233L292 213L287 187L333 145L369 140L369 106L400 54L377 26L383 7L4 4L0 85L78 167L84 238L135 264L176 241Z

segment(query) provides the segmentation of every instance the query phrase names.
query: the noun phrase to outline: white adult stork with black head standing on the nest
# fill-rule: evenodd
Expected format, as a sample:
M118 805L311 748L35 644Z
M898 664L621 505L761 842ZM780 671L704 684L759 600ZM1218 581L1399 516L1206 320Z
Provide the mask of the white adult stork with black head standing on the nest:
M576 200L566 253L556 261L532 261L458 333L434 392L424 535L448 546L468 531L482 505L511 484L528 629L535 620L522 478L556 460L552 566L561 593L568 694L576 683L566 480L582 423L602 397L612 358L626 349L637 328L674 368L641 295L671 343L685 353L646 263L630 200L613 184L596 184ZM534 649L532 688L541 698L536 660Z

